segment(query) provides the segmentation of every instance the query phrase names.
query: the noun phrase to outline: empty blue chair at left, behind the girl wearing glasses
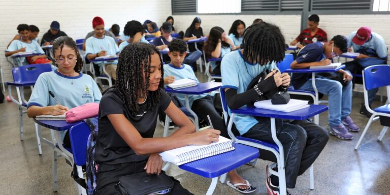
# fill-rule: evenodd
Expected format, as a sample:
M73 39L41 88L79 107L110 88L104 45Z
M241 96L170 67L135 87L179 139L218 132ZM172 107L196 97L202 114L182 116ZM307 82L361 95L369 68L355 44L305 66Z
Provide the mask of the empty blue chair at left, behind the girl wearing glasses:
M25 86L31 87L35 85L39 75L44 72L51 72L51 64L30 64L21 67L12 68L13 82L7 82L8 94L15 104L19 106L19 131L20 140L23 141L23 114L27 113L27 101L24 98L23 88ZM15 86L18 100L12 96L12 86ZM41 141L38 136L38 128L36 124L36 134L39 154L42 154Z

